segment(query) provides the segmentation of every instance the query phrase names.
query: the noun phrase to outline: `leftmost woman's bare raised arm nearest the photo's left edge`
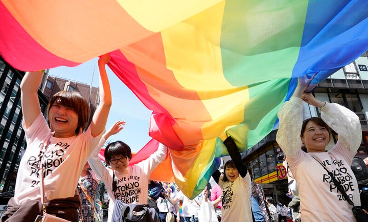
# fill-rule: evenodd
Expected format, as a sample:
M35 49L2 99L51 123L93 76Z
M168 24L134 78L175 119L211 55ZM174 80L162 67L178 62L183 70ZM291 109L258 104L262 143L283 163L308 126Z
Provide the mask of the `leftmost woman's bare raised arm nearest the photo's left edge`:
M40 113L38 88L43 71L27 72L20 82L21 109L26 127L30 127Z

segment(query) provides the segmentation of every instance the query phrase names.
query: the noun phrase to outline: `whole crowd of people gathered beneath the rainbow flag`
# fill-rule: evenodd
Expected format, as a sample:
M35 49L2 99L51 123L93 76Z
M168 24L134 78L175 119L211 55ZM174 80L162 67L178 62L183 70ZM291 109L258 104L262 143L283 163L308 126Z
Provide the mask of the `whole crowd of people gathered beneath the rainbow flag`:
M37 96L43 73L26 73L20 88L28 148L19 164L15 196L1 221L28 221L25 218L42 215L42 206L46 212L69 221L102 221L99 184L105 186L109 197L108 222L118 221L124 206L130 204L147 205L162 222L287 222L301 218L355 221L350 203L339 199L337 190L330 186L332 182L326 182L323 176L331 170L349 178L346 192L355 205L360 205L357 180L350 168L361 141L359 118L345 107L321 102L305 93L314 76L300 77L290 101L279 111L277 142L286 154L284 165L289 182L284 199L275 204L272 196L265 196L243 163L236 141L226 134L221 139L231 160L212 174L212 183L201 193L188 198L174 182L149 179L168 154L163 144L133 166L129 165L131 149L122 141L108 143L105 163L99 159L98 153L107 139L125 125L117 121L103 133L112 102L104 67L109 59L109 55L103 55L98 62L101 100L89 126L87 102L70 91L55 94L50 100L49 126ZM303 121L303 101L318 107L321 118ZM330 127L338 133L339 140L326 152ZM56 157L56 152L61 154ZM59 164L44 164L49 160Z

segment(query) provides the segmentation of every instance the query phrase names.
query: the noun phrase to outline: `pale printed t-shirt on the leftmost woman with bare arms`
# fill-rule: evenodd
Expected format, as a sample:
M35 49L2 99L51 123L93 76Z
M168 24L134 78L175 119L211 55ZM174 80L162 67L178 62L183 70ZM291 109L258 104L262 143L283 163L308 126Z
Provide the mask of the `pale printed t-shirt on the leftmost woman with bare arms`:
M100 141L102 132L94 138L88 127L79 136L56 138L41 113L29 128L23 122L23 128L28 146L19 164L15 202L22 204L27 199L41 201L40 158L45 201L74 196L83 166Z

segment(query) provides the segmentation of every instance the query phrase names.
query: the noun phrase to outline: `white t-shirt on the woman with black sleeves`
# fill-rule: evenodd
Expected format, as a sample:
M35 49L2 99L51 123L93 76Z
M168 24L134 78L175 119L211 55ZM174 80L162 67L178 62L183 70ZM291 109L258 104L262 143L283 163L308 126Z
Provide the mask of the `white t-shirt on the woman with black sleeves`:
M223 198L221 221L252 222L250 205L251 180L249 173L244 178L239 175L234 183L220 180L219 186L222 189Z

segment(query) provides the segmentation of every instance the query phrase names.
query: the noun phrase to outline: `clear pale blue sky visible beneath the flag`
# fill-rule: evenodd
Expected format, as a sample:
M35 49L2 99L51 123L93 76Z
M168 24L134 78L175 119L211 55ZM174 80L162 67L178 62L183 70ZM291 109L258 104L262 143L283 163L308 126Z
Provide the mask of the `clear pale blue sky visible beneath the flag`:
M75 67L59 66L58 68L50 69L49 75L98 87L99 71L97 60L98 58L95 58ZM112 73L107 65L106 71L112 94L112 106L106 128L110 128L118 120L126 121L124 129L119 134L111 136L109 140L121 140L128 144L133 152L137 152L151 139L148 136L151 110L147 109L135 97L129 88Z

